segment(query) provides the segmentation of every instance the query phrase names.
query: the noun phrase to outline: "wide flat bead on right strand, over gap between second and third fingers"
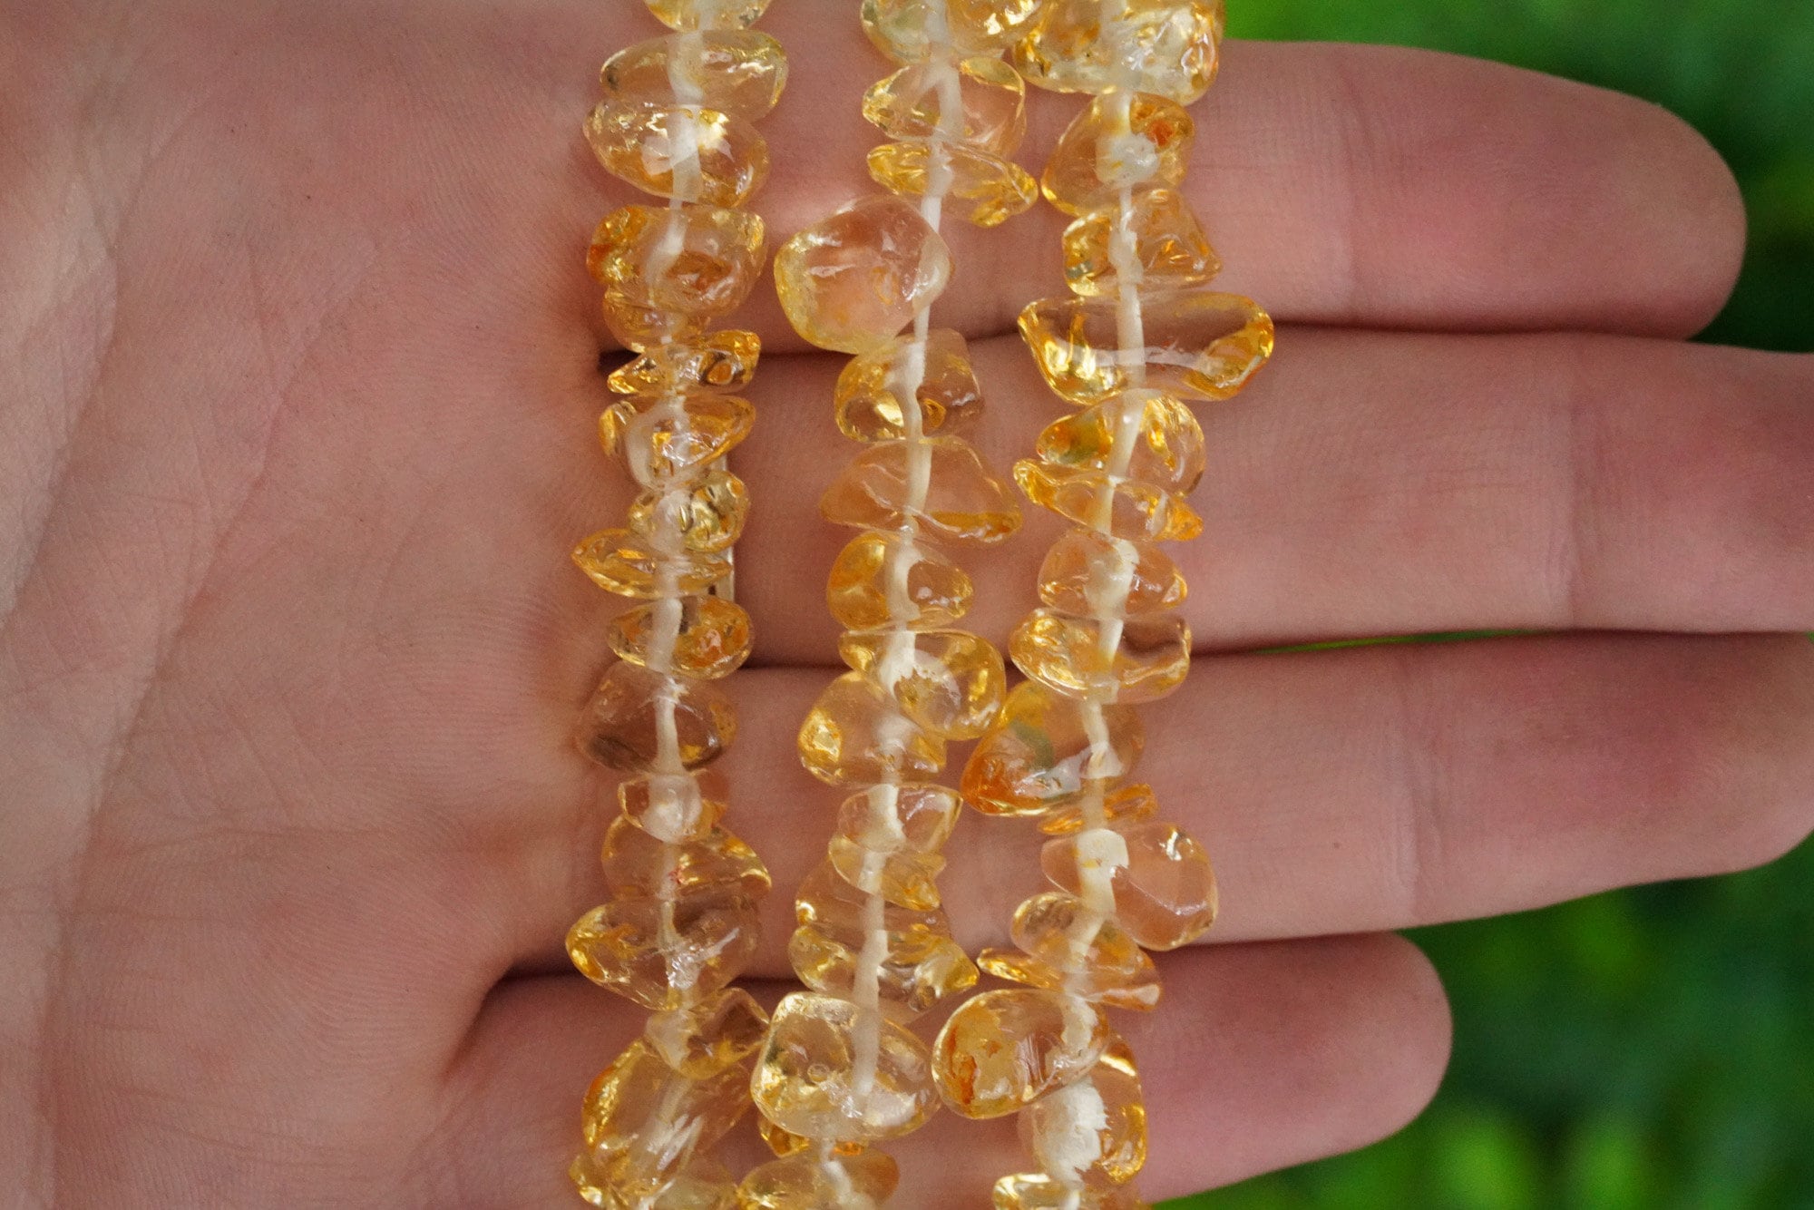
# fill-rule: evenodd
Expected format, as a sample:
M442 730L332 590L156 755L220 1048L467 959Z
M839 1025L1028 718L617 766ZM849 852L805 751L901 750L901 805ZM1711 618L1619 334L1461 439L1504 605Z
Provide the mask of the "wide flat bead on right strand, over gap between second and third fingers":
M1190 671L1190 626L1177 613L1099 620L1038 608L1009 639L1014 664L1070 697L1154 702Z

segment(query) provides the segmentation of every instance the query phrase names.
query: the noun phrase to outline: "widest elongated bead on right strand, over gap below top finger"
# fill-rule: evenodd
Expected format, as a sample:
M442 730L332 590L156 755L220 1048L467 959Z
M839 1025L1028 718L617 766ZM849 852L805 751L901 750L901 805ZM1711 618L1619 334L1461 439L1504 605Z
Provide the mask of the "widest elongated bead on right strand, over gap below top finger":
M1272 357L1272 317L1237 294L1141 294L1145 348L1117 346L1116 301L1047 298L1021 312L1021 337L1045 381L1072 403L1132 386L1179 399L1228 399ZM1141 381L1143 379L1143 381Z

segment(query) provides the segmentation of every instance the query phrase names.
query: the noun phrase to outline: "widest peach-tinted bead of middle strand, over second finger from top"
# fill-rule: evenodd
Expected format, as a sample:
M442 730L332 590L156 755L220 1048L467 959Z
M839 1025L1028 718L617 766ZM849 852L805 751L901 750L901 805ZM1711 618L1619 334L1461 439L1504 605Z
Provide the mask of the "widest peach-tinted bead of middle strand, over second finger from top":
M818 512L833 524L902 530L961 546L992 546L1019 528L1019 504L963 437L876 441L825 488Z

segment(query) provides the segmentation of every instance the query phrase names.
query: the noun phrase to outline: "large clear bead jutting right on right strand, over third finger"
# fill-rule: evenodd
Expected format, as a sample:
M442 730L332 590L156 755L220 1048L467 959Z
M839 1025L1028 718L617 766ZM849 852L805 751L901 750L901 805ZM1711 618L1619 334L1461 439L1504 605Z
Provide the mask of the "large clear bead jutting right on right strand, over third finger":
M1114 840L1099 844L1094 834L1097 831L1107 833L1103 840ZM1177 824L1119 820L1107 829L1048 840L1039 853L1039 869L1072 894L1081 891L1079 847L1087 854L1087 865L1096 865L1099 874L1108 876L1116 896L1116 922L1146 949L1177 949L1195 942L1215 923L1215 873L1210 858Z

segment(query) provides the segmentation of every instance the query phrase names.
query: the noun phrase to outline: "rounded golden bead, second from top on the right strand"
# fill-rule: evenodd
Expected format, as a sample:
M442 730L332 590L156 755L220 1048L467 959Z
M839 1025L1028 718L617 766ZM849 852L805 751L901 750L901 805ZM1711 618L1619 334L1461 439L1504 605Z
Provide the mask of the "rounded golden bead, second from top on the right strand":
M1126 129L1121 103L1126 103ZM1072 118L1039 174L1039 189L1065 214L1116 207L1123 189L1177 185L1197 127L1163 96L1096 98Z

